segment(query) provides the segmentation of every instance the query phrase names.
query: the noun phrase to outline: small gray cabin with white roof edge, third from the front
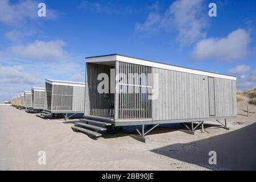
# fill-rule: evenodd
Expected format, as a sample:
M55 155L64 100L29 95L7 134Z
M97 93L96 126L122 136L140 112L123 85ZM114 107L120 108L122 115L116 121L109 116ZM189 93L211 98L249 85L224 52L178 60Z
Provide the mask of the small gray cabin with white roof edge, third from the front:
M44 109L44 93L45 88L41 87L32 87L31 96L32 96L32 109L33 110L43 110Z

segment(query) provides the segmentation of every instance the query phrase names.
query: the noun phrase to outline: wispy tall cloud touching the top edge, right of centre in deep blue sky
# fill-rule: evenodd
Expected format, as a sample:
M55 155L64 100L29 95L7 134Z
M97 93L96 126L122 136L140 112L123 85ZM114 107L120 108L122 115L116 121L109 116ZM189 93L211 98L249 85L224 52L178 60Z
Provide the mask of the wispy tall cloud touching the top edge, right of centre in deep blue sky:
M202 15L202 0L177 0L164 15L150 13L144 23L137 23L138 32L160 30L177 32L176 40L181 46L189 46L206 36L207 20Z

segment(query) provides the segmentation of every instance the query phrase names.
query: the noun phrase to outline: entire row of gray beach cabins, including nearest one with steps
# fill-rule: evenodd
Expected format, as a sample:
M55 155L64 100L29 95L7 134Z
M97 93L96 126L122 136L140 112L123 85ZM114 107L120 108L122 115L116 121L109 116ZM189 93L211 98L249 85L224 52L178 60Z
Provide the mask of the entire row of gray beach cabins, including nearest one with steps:
M42 118L82 114L72 129L95 137L134 126L144 140L160 124L183 123L194 133L214 120L227 128L226 119L237 116L236 77L119 54L94 56L86 57L85 82L46 80L45 88L18 94L12 105Z

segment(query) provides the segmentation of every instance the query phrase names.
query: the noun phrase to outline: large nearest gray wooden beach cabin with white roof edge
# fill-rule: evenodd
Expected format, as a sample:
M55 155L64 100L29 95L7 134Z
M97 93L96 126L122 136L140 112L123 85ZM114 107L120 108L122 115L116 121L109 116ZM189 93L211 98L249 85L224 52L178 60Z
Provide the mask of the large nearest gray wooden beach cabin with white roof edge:
M110 77L108 93L97 92L100 73ZM141 125L142 137L144 125L191 123L194 131L207 120L224 119L226 127L226 119L237 116L234 76L114 54L86 57L85 82L86 119Z

